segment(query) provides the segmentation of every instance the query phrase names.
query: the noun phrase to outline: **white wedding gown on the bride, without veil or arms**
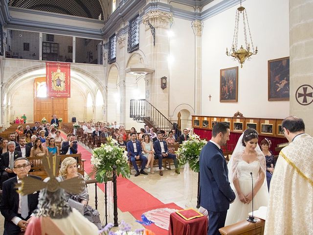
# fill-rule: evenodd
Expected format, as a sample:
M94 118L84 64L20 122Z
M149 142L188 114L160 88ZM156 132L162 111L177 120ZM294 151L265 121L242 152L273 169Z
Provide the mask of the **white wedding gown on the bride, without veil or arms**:
M244 195L247 195L252 191L252 181L250 172L253 175L253 187L255 186L257 179L259 177L260 164L259 161L254 161L252 163L247 163L244 160L238 162L238 181L241 191ZM266 176L264 177L266 181ZM239 221L245 220L248 217L248 213L252 211L252 202L249 204L244 204L239 200L238 193L231 183L231 188L236 194L235 201L229 205L229 210L227 211L225 226L237 223ZM253 207L254 211L258 210L261 206L268 205L268 188L263 185L256 195L253 197Z

